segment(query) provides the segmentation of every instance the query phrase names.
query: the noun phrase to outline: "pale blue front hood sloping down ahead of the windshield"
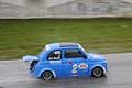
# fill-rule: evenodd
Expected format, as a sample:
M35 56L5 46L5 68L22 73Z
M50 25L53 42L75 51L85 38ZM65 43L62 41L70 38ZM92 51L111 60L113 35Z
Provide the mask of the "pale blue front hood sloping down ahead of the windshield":
M94 61L94 62L102 62L106 61L103 56L101 55L97 55L97 54L92 54L92 53L87 53L88 59L89 61Z

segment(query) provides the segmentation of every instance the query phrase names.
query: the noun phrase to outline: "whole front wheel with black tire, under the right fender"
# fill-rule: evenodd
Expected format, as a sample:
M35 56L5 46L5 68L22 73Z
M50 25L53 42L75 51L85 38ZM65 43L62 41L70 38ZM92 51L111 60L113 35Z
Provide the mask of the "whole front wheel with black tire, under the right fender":
M100 78L103 75L103 70L101 67L95 67L92 70L92 76L96 78Z

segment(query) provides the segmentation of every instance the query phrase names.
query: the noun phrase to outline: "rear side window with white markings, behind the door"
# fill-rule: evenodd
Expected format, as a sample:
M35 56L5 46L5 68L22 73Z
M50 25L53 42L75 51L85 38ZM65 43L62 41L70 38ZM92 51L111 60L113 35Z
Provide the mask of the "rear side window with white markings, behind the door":
M48 55L48 61L57 61L62 58L62 52L61 51L54 51Z

